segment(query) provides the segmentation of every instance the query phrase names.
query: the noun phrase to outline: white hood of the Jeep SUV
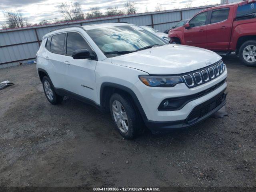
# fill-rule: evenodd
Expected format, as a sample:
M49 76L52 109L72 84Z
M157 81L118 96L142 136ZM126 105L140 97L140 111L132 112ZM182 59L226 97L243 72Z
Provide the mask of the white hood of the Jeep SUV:
M112 57L113 64L135 68L148 74L181 74L214 64L221 57L209 50L168 44Z

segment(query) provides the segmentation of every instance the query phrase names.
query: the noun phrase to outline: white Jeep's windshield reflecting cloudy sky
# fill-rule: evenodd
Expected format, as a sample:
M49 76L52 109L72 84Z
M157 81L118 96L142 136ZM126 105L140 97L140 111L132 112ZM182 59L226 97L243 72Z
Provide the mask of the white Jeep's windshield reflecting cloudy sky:
M86 32L107 57L127 54L153 45L167 44L138 26L104 27Z

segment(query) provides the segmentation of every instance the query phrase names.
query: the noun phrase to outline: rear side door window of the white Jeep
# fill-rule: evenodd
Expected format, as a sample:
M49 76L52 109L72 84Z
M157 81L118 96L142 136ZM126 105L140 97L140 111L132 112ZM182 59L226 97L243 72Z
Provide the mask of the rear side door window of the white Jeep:
M64 54L64 42L65 42L65 34L64 33L52 36L50 50L54 53Z

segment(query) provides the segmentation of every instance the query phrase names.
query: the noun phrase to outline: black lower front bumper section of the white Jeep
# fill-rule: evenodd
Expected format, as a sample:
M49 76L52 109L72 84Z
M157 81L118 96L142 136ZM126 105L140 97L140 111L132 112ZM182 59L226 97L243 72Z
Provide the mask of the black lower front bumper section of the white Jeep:
M225 89L226 90L226 89ZM205 120L212 114L220 110L226 104L225 90L207 100L206 102L196 106L184 120L171 121L171 122L156 122L146 120L146 126L152 132L162 132L174 128L187 128Z

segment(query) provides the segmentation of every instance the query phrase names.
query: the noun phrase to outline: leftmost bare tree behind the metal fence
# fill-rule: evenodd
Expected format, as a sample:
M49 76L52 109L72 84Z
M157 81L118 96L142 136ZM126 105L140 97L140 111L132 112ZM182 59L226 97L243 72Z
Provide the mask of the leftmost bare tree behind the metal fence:
M4 11L3 14L6 19L3 28L19 28L28 25L27 19L20 12Z

